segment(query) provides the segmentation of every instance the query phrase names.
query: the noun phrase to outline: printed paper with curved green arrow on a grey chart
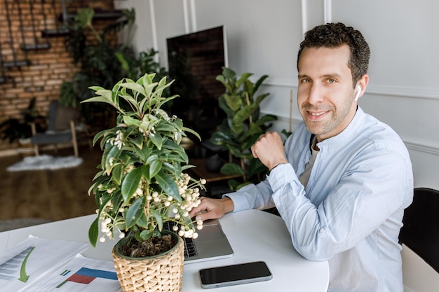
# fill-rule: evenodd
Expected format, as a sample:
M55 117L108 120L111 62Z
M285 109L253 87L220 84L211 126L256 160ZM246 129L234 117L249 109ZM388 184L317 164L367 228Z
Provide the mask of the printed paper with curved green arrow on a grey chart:
M22 291L47 272L72 260L87 247L85 242L43 239L30 235L0 255L1 291Z

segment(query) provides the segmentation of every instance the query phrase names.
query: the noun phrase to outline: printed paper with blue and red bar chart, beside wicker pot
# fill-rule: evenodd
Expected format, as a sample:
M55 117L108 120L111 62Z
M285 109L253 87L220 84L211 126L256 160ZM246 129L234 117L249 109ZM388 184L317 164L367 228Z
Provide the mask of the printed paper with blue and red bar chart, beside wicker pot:
M58 270L46 274L22 292L117 292L122 291L110 260L85 258L80 254Z

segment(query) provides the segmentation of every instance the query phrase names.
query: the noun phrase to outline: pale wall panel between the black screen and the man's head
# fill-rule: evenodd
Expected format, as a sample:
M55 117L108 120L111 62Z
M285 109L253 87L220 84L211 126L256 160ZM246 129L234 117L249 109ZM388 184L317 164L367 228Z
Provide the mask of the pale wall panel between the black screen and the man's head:
M196 0L198 29L225 25L229 67L239 74L296 78L300 0ZM269 5L267 5L269 4Z

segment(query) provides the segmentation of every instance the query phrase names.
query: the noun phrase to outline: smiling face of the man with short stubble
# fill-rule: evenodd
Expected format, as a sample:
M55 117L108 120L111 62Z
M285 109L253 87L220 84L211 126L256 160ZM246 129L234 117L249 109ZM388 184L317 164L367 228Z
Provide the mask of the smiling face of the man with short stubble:
M356 113L349 46L305 48L299 59L297 105L317 141L342 132Z

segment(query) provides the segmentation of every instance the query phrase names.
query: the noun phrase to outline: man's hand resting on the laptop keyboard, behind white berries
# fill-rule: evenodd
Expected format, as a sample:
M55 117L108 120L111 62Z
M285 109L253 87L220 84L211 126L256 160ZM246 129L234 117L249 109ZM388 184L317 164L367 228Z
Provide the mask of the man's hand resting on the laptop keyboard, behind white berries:
M200 197L200 200L201 204L189 212L189 216L191 218L196 216L196 220L205 221L221 218L224 214L234 211L234 202L229 197L223 197L222 199Z

